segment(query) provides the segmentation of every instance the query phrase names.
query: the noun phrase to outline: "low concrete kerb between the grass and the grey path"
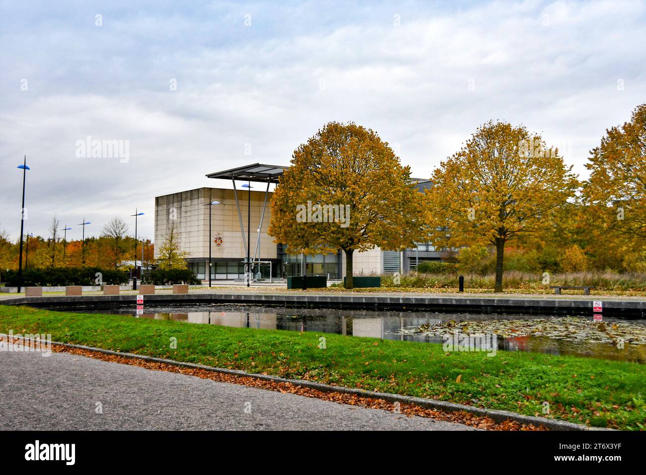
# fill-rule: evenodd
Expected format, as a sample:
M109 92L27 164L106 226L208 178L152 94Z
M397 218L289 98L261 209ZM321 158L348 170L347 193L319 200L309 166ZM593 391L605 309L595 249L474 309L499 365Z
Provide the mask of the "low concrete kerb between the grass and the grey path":
M25 337L23 337L25 340ZM370 399L383 399L391 403L401 404L414 404L425 409L435 409L444 412L468 412L476 416L491 417L494 421L503 422L507 419L519 422L521 424L533 424L536 426L543 426L550 430L613 430L607 428L588 427L583 424L575 424L568 421L560 421L558 419L547 419L544 417L524 416L516 412L509 412L505 410L485 409L474 406L466 406L462 404L449 403L446 401L438 401L436 399L424 399L423 397L403 396L401 394L389 394L385 392L375 392L362 390L357 388L346 388L344 386L331 386L324 385L323 383L315 383L314 381L304 381L302 379L286 379L278 376L271 376L266 374L247 373L241 370L229 370L227 368L215 368L214 366L206 366L205 364L185 363L182 361L173 361L171 359L157 358L153 356L136 355L133 353L120 353L112 350L105 350L103 348L94 348L92 346L85 346L81 344L59 343L52 341L52 344L58 344L67 348L76 348L79 350L89 350L98 352L105 355L122 356L131 359L140 359L141 361L149 361L151 363L163 363L171 366L178 366L181 368L193 368L199 370L212 371L221 374L230 374L243 377L253 377L263 381L273 381L275 383L290 383L295 386L303 386L305 388L315 389L322 392L340 392L342 394L353 394L360 397L368 397Z

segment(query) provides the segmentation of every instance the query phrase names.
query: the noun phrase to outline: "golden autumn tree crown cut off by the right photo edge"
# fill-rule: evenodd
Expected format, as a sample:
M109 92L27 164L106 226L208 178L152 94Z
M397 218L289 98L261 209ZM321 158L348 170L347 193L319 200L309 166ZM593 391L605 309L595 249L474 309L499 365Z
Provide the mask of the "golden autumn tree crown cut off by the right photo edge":
M590 151L583 195L596 227L633 246L646 244L646 104ZM610 232L607 232L610 231Z

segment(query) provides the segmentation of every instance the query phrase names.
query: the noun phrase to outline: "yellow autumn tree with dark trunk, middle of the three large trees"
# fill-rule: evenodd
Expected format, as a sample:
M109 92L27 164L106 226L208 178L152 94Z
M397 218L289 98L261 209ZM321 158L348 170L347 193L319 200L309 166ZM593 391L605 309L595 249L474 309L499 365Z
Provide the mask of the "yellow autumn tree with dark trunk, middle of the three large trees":
M433 242L495 246L495 291L503 290L505 244L553 232L559 208L578 187L558 149L525 127L488 121L433 171L428 220Z

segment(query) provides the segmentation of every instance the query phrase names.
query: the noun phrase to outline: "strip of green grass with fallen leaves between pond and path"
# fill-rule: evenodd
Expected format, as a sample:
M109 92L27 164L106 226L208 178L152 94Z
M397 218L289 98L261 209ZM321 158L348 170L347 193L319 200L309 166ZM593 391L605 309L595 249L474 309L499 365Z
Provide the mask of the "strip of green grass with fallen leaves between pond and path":
M646 426L646 366L498 351L445 353L441 344L331 333L227 328L0 306L0 332L333 385L550 415L601 427ZM326 348L320 346L324 336ZM177 349L171 349L171 339Z

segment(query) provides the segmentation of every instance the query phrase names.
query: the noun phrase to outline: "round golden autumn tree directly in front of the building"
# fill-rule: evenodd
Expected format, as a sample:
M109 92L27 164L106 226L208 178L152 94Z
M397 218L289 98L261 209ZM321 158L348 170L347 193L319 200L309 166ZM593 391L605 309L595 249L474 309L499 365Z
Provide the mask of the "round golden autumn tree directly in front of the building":
M420 237L421 193L388 143L355 123L330 122L293 153L272 200L269 235L292 253L346 257L395 250Z

